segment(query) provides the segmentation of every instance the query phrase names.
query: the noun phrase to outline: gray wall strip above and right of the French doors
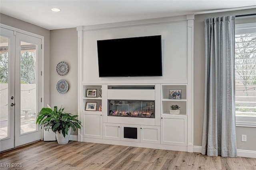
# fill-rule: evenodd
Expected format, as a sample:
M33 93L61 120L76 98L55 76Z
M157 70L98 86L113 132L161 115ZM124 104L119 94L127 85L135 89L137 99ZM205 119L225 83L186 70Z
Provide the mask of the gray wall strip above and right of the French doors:
M50 30L0 13L0 23L44 36L44 106L50 103Z

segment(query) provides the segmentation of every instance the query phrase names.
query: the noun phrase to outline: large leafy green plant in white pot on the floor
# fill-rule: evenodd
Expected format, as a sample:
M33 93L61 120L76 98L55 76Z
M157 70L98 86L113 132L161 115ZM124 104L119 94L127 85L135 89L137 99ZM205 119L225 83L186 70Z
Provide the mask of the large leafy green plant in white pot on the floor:
M71 129L75 131L76 128L80 129L82 126L81 122L76 119L78 115L65 113L63 110L64 108L58 110L57 106L54 106L54 110L49 106L42 108L36 120L40 127L44 126L44 130L52 129L56 134L58 144L67 144Z

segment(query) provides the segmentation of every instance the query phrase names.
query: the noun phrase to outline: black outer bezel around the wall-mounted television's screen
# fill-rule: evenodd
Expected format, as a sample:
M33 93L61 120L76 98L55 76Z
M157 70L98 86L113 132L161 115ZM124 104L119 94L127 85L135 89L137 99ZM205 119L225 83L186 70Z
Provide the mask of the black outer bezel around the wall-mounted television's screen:
M136 38L149 38L149 37L160 37L160 60L161 60L161 66L159 66L159 73L160 74L154 74L154 75L151 75L151 74L148 74L148 75L124 75L124 76L102 76L100 75L100 61L99 61L99 56L98 56L98 75L100 78L114 78L114 77L160 77L160 76L163 76L163 68L162 68L162 35L153 35L153 36L138 36L138 37L129 37L129 38L114 38L114 39L105 39L105 40L97 40L97 52L98 52L98 42L100 41L110 41L110 40L130 40L130 39L136 39ZM99 52L97 53L99 54Z

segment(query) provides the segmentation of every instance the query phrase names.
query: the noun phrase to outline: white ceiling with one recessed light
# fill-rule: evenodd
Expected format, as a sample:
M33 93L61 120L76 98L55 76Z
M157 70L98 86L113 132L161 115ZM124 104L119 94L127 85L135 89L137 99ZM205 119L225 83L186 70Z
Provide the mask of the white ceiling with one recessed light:
M0 0L0 13L48 30L242 7L256 0Z

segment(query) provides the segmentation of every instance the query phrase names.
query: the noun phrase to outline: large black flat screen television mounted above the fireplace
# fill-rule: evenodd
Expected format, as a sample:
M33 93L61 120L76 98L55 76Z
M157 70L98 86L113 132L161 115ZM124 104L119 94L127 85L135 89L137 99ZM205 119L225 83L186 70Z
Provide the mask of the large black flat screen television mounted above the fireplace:
M162 76L161 35L98 40L99 77Z

